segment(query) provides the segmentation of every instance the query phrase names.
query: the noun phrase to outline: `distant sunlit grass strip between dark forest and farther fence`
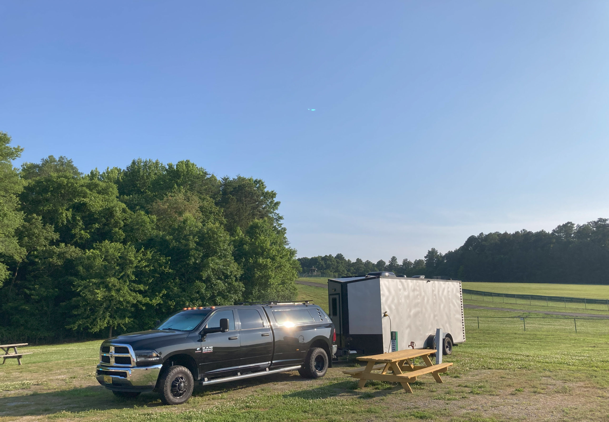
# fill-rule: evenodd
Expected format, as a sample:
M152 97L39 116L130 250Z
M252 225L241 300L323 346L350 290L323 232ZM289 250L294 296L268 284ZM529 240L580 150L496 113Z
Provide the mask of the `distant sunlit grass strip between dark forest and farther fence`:
M463 289L516 295L547 295L607 299L609 286L594 284L538 284L538 283L473 283L463 282Z

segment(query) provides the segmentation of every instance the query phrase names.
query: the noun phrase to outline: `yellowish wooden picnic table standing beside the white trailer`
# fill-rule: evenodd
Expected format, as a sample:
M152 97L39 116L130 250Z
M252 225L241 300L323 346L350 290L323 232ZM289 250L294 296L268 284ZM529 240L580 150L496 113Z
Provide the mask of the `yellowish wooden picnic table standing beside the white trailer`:
M452 362L434 365L429 355L435 353L432 349L399 350L392 353L375 354L373 356L357 357L358 360L368 362L365 368L355 368L343 371L343 374L359 378L357 388L361 389L368 379L376 381L400 382L407 393L412 393L409 382L417 381L417 376L429 374L435 378L435 382L442 383L440 372L445 372ZM425 366L414 365L414 358L421 357ZM381 364L376 365L376 362ZM378 371L381 372L373 372ZM392 373L387 373L392 371Z

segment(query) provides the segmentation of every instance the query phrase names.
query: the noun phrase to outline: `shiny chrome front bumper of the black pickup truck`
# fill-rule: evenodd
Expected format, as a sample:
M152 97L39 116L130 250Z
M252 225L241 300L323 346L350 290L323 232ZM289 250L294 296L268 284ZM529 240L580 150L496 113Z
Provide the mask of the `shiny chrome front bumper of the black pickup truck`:
M163 365L118 367L97 365L96 378L108 390L144 392L154 389Z

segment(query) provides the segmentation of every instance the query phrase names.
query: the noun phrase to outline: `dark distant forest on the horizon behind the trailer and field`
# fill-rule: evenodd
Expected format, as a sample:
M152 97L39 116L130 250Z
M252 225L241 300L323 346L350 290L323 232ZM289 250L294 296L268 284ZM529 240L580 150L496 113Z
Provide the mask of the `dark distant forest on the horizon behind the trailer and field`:
M442 254L431 248L424 259L414 261L399 262L395 256L389 262L351 261L340 253L298 261L304 272L315 267L328 276L385 270L471 281L609 284L609 219L566 222L551 232L480 233L456 250Z

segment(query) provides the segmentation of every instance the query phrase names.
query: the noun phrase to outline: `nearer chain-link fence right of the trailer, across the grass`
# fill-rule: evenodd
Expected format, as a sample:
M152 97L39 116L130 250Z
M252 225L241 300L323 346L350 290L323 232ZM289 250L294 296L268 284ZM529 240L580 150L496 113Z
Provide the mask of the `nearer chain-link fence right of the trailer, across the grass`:
M465 331L555 331L609 334L609 318L465 317Z

